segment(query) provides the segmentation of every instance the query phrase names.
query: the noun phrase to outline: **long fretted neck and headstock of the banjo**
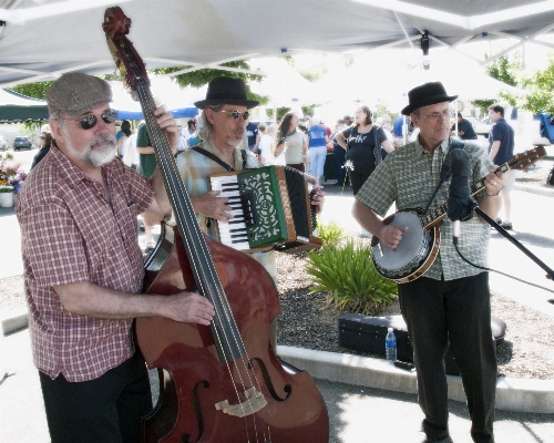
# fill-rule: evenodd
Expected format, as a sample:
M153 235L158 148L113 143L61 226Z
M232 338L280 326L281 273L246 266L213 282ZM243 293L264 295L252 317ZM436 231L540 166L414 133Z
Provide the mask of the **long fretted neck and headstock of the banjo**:
M544 146L536 146L533 150L525 151L524 153L517 154L513 156L510 161L499 166L496 172L505 173L510 169L519 169L523 171L531 166L533 163L543 158L546 155L546 151ZM471 195L475 195L480 190L482 190L485 186L485 177L474 182L470 186ZM439 226L448 210L448 202L444 202L442 205L437 206L434 209L429 210L425 214L419 215L419 219L421 225L425 229L430 229L432 227Z

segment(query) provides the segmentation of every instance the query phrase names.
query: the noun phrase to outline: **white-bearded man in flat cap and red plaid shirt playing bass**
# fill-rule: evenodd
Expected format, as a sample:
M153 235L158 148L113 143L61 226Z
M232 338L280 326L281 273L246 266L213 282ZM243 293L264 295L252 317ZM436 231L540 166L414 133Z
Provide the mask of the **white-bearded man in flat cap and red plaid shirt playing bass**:
M51 441L137 442L152 410L132 322L162 316L209 324L197 293L141 295L136 216L171 214L160 171L148 182L115 158L110 85L70 73L47 92L54 141L17 202L29 329ZM176 150L171 114L154 111Z

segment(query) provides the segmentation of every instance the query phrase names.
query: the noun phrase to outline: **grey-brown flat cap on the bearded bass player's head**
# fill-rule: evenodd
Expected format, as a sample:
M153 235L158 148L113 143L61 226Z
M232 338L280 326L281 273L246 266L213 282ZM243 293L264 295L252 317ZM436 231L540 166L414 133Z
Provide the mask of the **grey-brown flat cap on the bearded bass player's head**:
M81 72L63 74L52 83L45 94L48 111L62 111L80 115L112 101L110 84L94 75Z

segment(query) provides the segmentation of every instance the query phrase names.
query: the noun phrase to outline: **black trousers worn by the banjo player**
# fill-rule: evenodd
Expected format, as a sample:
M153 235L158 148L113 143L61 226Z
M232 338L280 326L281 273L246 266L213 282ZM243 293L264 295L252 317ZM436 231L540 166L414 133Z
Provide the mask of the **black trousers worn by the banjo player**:
M413 344L419 404L429 441L444 439L448 391L444 354L460 369L474 442L491 443L496 393L496 353L491 331L489 274L455 280L419 278L398 285L400 309Z

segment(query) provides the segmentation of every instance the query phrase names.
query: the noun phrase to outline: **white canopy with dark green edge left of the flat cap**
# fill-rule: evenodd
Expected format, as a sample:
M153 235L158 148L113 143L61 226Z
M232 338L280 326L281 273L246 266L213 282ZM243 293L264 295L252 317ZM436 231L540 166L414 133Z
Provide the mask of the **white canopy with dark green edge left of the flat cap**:
M48 121L47 102L0 90L0 123Z

